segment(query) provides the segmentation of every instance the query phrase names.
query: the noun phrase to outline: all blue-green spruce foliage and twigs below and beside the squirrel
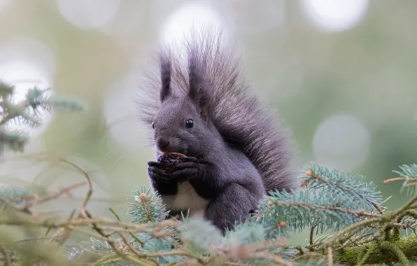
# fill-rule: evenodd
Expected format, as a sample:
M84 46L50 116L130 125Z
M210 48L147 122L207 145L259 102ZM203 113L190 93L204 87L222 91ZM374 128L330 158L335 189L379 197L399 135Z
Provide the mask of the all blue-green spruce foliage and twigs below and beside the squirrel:
M6 131L10 120L40 125L38 109L83 109L69 99L44 97L29 90L13 103L13 87L0 86L1 147L23 151L27 137ZM271 192L256 214L222 236L208 221L169 218L160 195L146 187L127 200L129 222L94 216L88 208L92 182L57 193L35 188L0 188L0 261L3 265L413 265L417 262L417 165L402 165L398 176L409 201L387 211L381 193L358 174L311 163L303 169L302 188ZM70 217L51 216L37 207L88 184L83 205ZM389 185L388 185L389 186ZM36 207L36 208L34 208ZM15 239L10 228L20 228ZM288 232L310 232L302 246L288 244ZM84 241L73 233L88 237ZM318 236L318 233L323 235ZM402 233L402 234L400 234Z

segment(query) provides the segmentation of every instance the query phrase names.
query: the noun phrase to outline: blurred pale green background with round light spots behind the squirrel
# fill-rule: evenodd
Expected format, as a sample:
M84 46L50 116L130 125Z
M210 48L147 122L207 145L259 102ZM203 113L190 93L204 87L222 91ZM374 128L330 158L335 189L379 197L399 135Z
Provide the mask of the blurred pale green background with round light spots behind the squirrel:
M382 181L417 162L416 10L417 1L389 0L0 0L0 79L17 99L38 85L87 107L45 113L36 130L9 125L31 141L3 155L0 184L83 181L68 160L94 181L94 214L113 207L127 218L153 157L134 102L143 69L158 45L209 23L236 41L248 83L292 129L300 168L360 173L399 207L400 184ZM67 214L85 191L53 207Z

